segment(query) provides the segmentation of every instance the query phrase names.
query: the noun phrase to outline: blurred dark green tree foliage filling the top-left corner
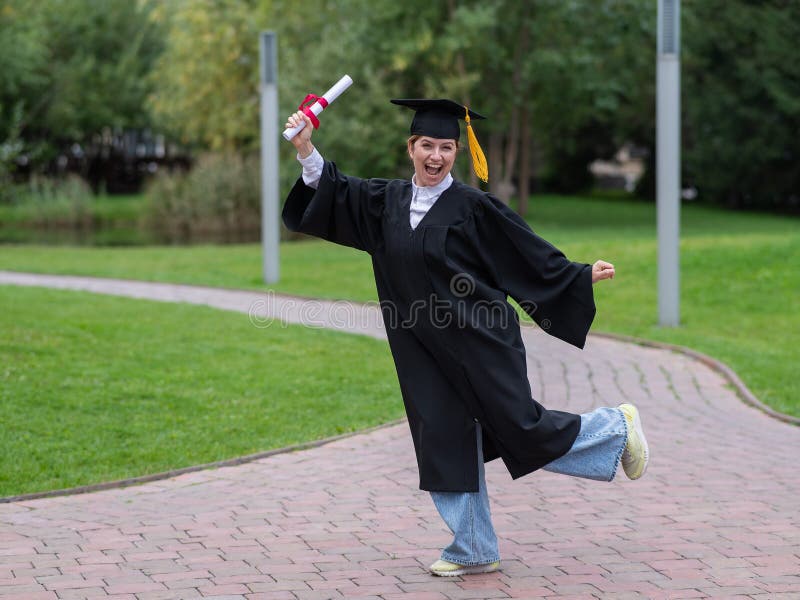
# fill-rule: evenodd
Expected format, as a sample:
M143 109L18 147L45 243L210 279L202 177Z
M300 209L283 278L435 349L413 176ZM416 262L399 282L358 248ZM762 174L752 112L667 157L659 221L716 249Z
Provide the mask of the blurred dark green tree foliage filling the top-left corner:
M151 11L127 0L3 0L0 141L20 136L36 159L104 128L147 127L148 73L163 47Z

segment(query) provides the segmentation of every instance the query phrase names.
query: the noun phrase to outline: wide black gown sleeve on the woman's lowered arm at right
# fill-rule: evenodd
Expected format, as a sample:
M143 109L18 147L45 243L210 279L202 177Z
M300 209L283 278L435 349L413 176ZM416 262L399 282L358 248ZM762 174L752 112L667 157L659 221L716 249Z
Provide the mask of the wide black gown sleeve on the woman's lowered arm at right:
M544 331L583 348L595 315L591 265L568 260L499 200L479 212L477 246L498 288Z

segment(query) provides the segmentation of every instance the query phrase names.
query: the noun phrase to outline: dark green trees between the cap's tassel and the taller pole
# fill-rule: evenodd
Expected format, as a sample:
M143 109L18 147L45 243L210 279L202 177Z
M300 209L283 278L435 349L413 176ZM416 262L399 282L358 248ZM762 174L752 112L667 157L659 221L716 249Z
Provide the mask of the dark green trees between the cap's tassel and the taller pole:
M465 64L455 73L477 75L468 94L491 115L491 189L508 199L518 184L521 212L534 156L539 177L581 189L592 160L652 123L637 114L652 98L648 2L449 4L450 45Z

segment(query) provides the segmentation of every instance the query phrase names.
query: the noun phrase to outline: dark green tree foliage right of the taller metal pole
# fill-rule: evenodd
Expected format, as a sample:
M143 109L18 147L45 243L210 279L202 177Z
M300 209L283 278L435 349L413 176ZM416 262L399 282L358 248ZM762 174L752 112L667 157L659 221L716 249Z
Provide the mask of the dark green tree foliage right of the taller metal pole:
M732 207L800 207L800 4L684 11L684 180Z

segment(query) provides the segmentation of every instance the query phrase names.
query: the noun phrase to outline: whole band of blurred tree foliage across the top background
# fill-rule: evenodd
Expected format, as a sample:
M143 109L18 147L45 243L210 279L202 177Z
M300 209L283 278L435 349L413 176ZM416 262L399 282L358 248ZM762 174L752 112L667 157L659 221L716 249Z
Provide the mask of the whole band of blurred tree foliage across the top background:
M686 184L797 206L800 3L684 0L682 15ZM353 77L314 138L345 171L408 176L410 114L388 99L453 97L489 117L475 129L491 191L584 189L589 162L623 143L653 162L655 28L651 0L2 0L0 185L20 156L41 163L104 128L256 150L258 33L272 30L281 124ZM291 145L279 151L286 192L298 168ZM456 175L470 177L466 158Z

